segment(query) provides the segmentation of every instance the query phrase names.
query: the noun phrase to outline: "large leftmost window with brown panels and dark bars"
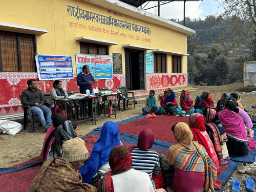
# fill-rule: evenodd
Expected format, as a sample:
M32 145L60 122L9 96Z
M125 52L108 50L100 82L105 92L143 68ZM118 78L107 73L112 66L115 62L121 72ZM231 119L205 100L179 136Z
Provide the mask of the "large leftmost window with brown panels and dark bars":
M0 31L0 71L36 72L35 36Z

